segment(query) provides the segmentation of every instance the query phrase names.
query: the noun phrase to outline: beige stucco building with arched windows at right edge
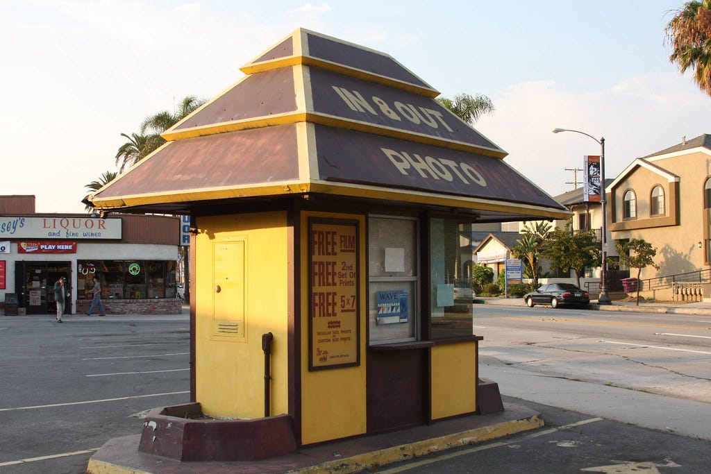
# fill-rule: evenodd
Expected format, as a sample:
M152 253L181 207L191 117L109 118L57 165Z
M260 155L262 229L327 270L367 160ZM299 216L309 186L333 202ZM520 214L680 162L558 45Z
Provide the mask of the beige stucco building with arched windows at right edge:
M683 140L637 158L607 187L612 244L644 239L656 247L641 279L704 269L709 265L711 135ZM633 275L634 276L634 275Z

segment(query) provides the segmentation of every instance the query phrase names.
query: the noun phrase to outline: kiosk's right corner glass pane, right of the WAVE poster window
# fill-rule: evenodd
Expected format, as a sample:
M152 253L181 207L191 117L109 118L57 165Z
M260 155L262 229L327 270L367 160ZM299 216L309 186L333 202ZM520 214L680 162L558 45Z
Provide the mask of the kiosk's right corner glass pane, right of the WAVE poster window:
M450 219L430 222L430 338L471 336L474 294L462 262L471 259L471 225Z

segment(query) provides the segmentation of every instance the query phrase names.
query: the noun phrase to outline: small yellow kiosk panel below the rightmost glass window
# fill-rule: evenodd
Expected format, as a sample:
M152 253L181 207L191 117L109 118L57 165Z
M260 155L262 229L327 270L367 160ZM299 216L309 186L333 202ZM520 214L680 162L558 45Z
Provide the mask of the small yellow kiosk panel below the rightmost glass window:
M432 419L476 411L476 342L430 349Z

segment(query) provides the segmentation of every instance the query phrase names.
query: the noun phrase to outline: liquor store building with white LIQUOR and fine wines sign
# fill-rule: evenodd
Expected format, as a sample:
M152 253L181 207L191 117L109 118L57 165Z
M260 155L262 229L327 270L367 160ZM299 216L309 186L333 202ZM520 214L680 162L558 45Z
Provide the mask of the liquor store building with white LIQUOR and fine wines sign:
M82 313L96 276L109 314L181 312L178 217L36 213L34 200L0 196L0 301L16 302L18 314L55 313L54 284L64 276L65 312Z

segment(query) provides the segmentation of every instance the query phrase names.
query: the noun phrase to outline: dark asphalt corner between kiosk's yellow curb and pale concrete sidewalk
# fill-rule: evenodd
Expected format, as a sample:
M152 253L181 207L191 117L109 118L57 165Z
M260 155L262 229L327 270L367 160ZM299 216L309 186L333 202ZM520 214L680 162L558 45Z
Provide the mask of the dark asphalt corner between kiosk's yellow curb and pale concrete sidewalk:
M504 397L540 411L545 426L368 473L708 473L708 441Z

